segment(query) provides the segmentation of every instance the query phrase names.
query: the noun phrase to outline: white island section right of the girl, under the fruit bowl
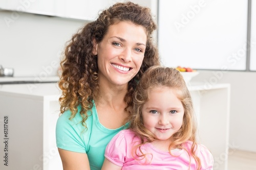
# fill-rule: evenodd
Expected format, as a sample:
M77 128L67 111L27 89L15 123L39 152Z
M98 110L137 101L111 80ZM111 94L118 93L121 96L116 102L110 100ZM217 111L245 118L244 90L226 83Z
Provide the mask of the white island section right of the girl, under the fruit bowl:
M188 89L197 116L200 142L214 156L214 169L227 170L230 85L197 83Z

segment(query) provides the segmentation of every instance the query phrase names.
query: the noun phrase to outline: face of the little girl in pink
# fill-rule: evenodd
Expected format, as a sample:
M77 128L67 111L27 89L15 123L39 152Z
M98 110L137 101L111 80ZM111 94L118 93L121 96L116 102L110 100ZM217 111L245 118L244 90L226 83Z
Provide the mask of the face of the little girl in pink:
M184 108L170 87L156 87L148 93L142 107L143 124L159 140L172 140L172 135L182 126Z

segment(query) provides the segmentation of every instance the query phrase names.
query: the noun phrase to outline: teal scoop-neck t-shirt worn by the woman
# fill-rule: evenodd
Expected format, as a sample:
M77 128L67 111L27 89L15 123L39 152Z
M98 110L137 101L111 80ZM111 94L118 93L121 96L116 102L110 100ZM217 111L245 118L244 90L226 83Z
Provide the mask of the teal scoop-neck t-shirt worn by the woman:
M86 120L87 130L81 124L81 107L75 117L69 120L71 112L65 111L57 120L56 143L63 150L87 153L91 170L99 170L104 161L106 145L124 127L118 129L107 129L100 124L95 105L92 114Z

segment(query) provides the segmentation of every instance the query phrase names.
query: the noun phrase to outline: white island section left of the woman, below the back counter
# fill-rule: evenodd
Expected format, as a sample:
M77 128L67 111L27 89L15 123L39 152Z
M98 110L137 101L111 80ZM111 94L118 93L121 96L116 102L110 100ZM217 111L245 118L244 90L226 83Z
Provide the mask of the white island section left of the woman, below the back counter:
M0 86L0 169L62 169L55 140L59 94L55 83Z

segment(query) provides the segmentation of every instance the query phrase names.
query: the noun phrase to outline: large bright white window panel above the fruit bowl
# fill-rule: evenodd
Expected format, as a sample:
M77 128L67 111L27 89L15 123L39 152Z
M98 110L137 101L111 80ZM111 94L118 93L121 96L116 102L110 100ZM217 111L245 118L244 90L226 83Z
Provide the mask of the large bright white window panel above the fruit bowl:
M158 42L163 63L245 70L247 6L247 1L240 0L159 0Z

